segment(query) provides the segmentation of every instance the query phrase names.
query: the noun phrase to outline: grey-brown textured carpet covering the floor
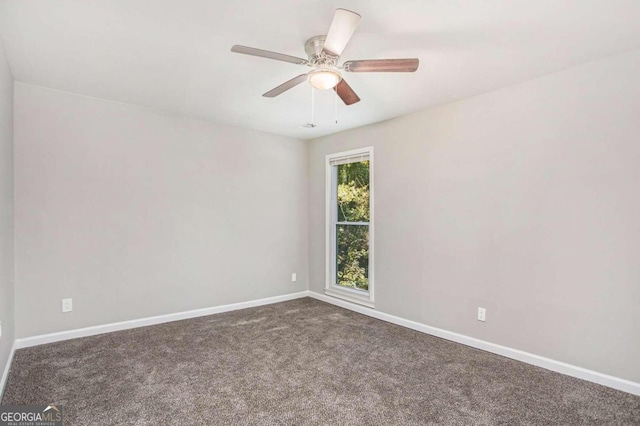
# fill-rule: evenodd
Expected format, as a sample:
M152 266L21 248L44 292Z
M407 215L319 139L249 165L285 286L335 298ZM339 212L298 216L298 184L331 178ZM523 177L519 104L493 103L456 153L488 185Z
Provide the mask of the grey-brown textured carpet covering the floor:
M16 352L66 425L640 424L640 397L299 299Z

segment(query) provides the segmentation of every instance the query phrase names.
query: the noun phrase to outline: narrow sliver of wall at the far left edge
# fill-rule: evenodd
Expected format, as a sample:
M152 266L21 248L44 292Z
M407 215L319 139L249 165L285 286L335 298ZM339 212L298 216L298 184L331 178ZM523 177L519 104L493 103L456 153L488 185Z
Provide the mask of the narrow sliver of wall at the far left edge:
M0 380L14 340L14 304L13 77L0 42Z

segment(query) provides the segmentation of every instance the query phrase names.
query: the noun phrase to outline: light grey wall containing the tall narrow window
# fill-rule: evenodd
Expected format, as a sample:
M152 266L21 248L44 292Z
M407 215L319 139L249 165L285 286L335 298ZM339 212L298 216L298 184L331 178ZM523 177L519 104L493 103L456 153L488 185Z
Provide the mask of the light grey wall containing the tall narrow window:
M310 289L324 156L373 145L378 310L640 382L638 76L640 51L313 141Z

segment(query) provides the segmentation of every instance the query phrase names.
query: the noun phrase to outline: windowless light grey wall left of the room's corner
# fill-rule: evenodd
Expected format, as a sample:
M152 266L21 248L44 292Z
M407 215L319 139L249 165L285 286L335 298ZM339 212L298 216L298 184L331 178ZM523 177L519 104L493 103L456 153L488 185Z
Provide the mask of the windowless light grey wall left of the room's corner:
M301 141L16 83L17 336L306 290L307 182Z

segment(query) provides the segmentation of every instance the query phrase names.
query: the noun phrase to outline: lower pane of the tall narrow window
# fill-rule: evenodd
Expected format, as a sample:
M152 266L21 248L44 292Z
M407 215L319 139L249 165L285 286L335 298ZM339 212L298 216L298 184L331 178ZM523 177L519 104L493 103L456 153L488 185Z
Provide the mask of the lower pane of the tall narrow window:
M369 226L336 225L336 284L369 289Z

